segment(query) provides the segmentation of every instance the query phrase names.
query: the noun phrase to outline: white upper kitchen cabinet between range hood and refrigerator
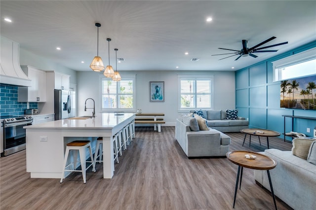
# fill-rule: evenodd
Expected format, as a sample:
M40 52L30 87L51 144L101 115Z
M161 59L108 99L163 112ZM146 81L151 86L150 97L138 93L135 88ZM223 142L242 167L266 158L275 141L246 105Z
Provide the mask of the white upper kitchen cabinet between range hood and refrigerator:
M46 102L46 72L31 66L21 66L31 79L31 87L18 87L18 102Z

